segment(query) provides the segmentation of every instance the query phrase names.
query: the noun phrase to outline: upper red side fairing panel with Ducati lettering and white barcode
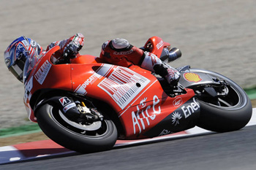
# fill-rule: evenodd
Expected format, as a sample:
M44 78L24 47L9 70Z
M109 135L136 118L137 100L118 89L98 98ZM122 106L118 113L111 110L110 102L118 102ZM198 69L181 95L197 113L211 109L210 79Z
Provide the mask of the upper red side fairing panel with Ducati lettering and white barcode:
M91 72L85 72L89 69ZM71 77L75 93L105 101L116 112L129 106L136 96L156 80L143 69L136 69L134 72L132 69L106 63L74 64Z

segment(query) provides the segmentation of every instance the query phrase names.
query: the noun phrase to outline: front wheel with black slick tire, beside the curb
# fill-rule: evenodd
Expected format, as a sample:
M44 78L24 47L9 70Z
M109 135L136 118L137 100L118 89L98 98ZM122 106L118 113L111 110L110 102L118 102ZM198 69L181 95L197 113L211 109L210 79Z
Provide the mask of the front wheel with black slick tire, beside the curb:
M83 125L67 120L55 104L42 105L37 110L37 122L50 139L77 152L109 150L117 139L116 126L107 116Z

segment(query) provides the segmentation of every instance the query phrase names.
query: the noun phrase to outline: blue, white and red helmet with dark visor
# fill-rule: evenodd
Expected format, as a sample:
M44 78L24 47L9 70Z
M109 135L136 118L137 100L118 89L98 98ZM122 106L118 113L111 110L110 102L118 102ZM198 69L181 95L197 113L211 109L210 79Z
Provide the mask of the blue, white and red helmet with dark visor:
M23 68L27 58L39 55L42 52L37 42L32 39L20 36L15 39L4 52L4 61L10 72L23 82Z

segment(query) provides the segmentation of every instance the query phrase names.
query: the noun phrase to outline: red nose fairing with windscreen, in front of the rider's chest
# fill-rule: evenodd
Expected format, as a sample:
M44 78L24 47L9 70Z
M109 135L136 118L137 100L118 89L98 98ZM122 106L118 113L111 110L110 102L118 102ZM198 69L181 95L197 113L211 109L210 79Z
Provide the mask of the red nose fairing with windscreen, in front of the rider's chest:
M31 108L31 97L38 90L43 89L58 89L58 90L71 90L72 82L70 76L70 65L60 64L54 65L50 58L53 53L59 50L59 46L53 47L47 53L37 58L38 61L33 60L26 62L24 68L24 104L26 106L29 119L36 122L34 117L33 108Z

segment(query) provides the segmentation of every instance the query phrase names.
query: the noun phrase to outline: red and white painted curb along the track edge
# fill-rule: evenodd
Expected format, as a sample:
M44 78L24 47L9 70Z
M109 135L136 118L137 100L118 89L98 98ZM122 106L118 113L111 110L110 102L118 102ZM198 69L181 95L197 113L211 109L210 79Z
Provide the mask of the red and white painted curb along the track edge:
M256 125L256 108L253 109L252 118L246 126ZM186 131L181 131L176 134L169 134L165 136L158 136L152 139L140 139L140 140L118 140L114 146L126 147L138 144L148 144L153 142L162 142L170 139L181 139L184 137L214 134L215 132L206 131L203 128L190 128ZM0 165L6 163L14 163L18 161L29 161L39 158L50 158L56 155L70 155L79 154L78 152L68 150L56 144L52 140L42 140L36 142L29 142L24 144L15 144L12 146L0 147Z

